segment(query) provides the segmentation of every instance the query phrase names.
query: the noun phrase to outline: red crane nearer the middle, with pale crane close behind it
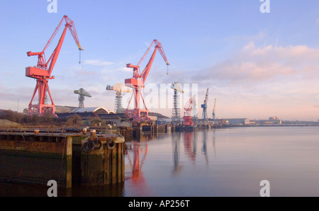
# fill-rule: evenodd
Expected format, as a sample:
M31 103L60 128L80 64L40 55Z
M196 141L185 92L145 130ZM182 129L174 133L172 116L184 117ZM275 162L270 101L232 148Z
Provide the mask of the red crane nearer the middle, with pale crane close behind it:
M141 73L140 63L145 59L145 56L147 55L147 53L150 52L150 49L153 44L155 44L155 50L152 53L152 56L150 57L150 61L146 64L145 69ZM144 97L142 96L142 89L145 87L144 86L145 80L147 78L148 73L150 72L150 68L152 67L152 63L154 61L157 50L159 50L166 64L169 65L169 62L167 61L162 44L161 42L157 40L153 40L152 44L150 45L150 47L148 47L142 59L140 59L140 62L138 62L138 65L126 64L126 67L133 68L133 77L131 79L125 79L125 85L130 86L134 89L132 97L134 96L135 104L134 104L134 109L130 110L128 109L130 107L130 102L129 102L128 108L126 109L125 114L128 116L128 118L133 118L133 122L150 121L150 118L148 118L148 109L145 105ZM132 100L132 97L130 98L130 101ZM142 98L145 109L140 108L140 98Z

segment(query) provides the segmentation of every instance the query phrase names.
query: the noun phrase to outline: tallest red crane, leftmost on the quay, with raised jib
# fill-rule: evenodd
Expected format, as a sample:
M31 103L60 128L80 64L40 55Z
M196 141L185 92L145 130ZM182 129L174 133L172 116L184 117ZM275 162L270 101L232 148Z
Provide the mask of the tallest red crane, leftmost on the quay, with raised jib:
M57 32L60 29L60 26L62 25L63 20L65 20L65 23L66 23L65 29L63 30L61 38L59 42L57 43L57 47L55 47L55 50L52 52L52 55L46 61L45 50L47 50L47 47L49 47L52 40L55 38L55 35L57 35ZM77 38L77 31L75 30L73 21L69 19L67 16L63 16L59 25L57 25L55 32L51 36L50 40L47 42L47 45L45 45L43 51L42 52L30 52L30 51L27 52L28 57L38 56L37 66L26 68L26 76L33 79L37 79L37 84L35 86L32 99L29 103L28 114L35 113L40 115L43 113L52 113L52 114L55 113L55 104L52 101L52 96L50 93L49 86L47 85L47 82L48 82L48 79L55 78L55 76L51 76L51 73L53 68L55 67L55 62L57 62L57 57L60 53L63 40L65 39L65 33L67 32L67 28L69 28L69 31L71 32L75 42L77 43L77 47L79 47L79 50L83 50L81 45L79 44L79 38ZM38 104L32 104L33 98L35 97L35 93L37 91L38 91L39 102ZM49 93L51 105L45 102L46 93Z

